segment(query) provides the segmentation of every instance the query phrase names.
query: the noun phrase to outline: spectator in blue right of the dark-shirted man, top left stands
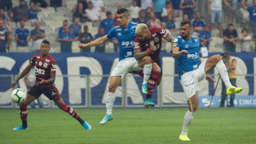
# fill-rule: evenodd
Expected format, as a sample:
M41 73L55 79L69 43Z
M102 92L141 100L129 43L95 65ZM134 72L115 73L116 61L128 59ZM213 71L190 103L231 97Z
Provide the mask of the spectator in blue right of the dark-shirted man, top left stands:
M30 22L31 26L34 25L34 22L38 20L37 13L42 11L42 8L35 5L34 2L29 3L29 10L28 10L28 21Z

